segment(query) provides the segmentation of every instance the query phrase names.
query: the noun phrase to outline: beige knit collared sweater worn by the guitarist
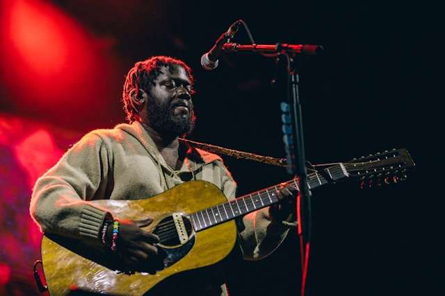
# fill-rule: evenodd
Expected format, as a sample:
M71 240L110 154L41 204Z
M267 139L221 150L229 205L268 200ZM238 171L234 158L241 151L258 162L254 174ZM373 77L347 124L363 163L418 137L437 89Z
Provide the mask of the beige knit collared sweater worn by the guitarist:
M140 123L95 130L38 179L31 216L42 232L99 243L104 218L113 213L89 200L149 198L165 191L165 183L172 188L193 178L215 184L227 200L235 198L236 183L217 155L190 148L181 169L174 173ZM241 246L248 260L273 252L289 229L272 225L267 208L240 222L245 226L240 229ZM227 295L225 289L221 295Z

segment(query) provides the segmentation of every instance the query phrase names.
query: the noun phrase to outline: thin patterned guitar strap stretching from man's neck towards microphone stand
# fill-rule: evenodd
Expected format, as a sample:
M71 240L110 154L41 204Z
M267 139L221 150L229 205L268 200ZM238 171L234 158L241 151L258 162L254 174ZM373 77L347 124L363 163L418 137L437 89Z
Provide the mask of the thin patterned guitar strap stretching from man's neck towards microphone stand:
M227 149L227 148L223 148L220 146L215 146L215 145L206 144L206 143L199 143L199 142L181 139L181 138L179 138L179 141L181 141L182 143L186 143L190 146L193 146L195 148L205 150L210 153L227 155L227 156L232 156L232 157L236 157L236 158L250 159L250 160L254 160L255 162L262 162L263 164L273 164L274 166L284 166L284 167L286 166L285 158L274 158L274 157L268 157L268 156L261 156L261 155L256 155L253 153Z

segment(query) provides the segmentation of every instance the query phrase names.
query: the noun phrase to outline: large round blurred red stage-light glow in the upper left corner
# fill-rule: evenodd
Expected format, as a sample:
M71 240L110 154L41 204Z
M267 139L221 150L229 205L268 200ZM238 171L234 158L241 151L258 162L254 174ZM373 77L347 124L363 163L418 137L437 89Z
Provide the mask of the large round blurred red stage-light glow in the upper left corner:
M70 122L114 95L108 48L49 1L0 0L0 43L0 82L21 112Z

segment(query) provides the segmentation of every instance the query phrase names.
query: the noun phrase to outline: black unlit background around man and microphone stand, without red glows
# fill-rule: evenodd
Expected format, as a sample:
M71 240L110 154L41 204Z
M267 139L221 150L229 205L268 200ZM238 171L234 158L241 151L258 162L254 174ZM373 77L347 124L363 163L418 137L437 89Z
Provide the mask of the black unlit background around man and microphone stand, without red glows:
M407 148L415 170L402 184L359 189L341 182L314 191L313 241L307 295L437 295L443 233L439 182L444 96L439 7L380 1L53 1L90 31L115 40L122 77L151 55L184 60L195 76L197 128L188 139L260 155L284 157L280 87L275 60L257 53L223 53L213 71L203 53L237 19L258 44L321 44L301 56L300 100L306 158L313 164ZM249 44L243 27L234 40ZM121 85L111 85L114 110L78 122L52 124L81 132L124 121ZM437 89L438 90L438 89ZM2 103L2 110L15 110ZM33 117L47 120L47 114ZM437 140L437 141L435 141ZM224 157L238 195L290 179L283 168ZM298 236L289 233L266 259L245 262L231 295L297 295Z

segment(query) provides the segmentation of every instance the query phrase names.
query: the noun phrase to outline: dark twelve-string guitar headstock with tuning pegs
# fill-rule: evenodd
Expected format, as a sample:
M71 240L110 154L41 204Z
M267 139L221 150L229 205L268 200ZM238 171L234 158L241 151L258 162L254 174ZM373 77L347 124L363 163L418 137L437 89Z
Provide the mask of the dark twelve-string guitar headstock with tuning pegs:
M414 168L410 153L405 148L386 150L367 157L352 159L344 163L350 177L362 181L362 188L366 185L380 186L382 183L397 183L406 179L406 172Z

